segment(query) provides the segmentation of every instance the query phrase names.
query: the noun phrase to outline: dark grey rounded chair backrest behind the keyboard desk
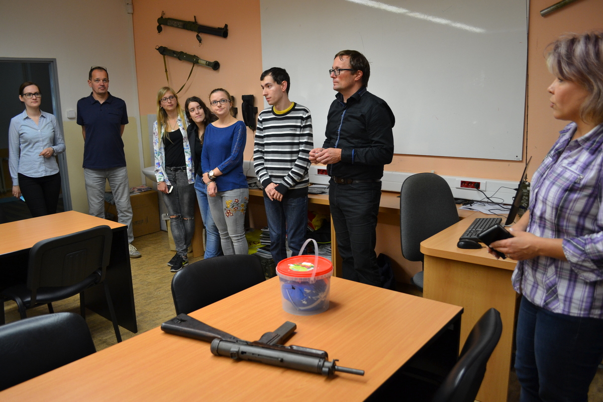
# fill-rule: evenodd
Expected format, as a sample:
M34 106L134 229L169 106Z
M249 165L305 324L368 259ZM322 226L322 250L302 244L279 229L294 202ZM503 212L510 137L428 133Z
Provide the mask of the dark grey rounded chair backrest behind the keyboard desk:
M400 243L402 255L423 261L420 244L458 222L450 186L434 173L408 177L400 189Z

